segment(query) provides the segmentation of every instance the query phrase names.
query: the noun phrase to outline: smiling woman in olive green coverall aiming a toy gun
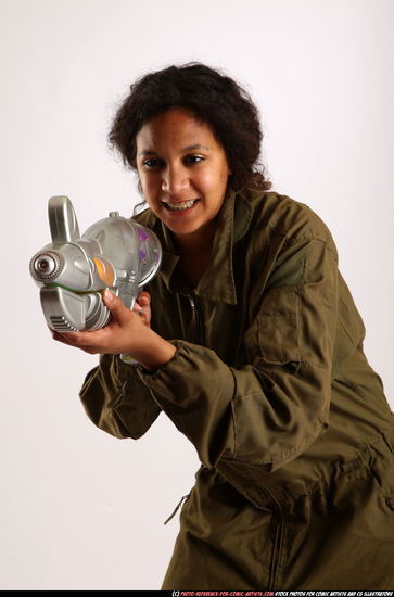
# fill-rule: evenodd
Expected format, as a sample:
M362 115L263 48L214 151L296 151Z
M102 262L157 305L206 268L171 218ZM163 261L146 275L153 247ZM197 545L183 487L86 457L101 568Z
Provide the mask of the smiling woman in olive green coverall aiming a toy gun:
M105 291L106 328L54 338L101 354L80 392L99 428L138 439L164 411L198 450L162 588L393 588L393 415L330 232L268 190L251 99L171 66L131 87L110 139L163 265L143 317Z

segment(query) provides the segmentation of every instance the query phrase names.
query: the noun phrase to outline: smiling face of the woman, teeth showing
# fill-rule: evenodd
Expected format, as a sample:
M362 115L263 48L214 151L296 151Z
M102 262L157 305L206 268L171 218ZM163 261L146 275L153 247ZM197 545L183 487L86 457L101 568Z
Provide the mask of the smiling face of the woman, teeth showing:
M179 240L214 227L231 173L209 126L173 109L145 123L136 142L140 183L156 216Z

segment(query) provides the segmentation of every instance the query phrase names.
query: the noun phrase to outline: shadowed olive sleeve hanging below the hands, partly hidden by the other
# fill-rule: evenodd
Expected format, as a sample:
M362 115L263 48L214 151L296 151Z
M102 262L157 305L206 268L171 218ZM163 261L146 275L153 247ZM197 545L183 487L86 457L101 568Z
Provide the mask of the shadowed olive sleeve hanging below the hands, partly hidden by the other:
M123 364L116 355L101 355L100 365L88 373L79 396L91 421L115 437L137 440L161 412L136 366Z

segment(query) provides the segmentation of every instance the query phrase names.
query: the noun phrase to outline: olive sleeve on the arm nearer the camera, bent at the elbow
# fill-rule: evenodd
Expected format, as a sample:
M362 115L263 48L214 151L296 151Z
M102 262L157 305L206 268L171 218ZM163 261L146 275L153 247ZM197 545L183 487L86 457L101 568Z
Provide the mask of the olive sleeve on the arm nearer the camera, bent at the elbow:
M246 366L229 367L212 350L175 340L168 364L153 374L136 370L203 465L247 462L270 472L325 430L336 277L333 246L320 239L289 242L244 332Z

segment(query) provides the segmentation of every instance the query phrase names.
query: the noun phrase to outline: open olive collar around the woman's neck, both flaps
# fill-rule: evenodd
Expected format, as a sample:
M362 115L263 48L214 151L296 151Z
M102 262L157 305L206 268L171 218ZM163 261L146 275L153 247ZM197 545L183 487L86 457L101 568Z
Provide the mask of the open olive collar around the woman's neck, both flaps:
M229 191L219 212L213 258L202 276L194 294L204 298L237 305L237 291L232 270L232 249L247 232L252 220L252 206L242 191ZM163 259L158 276L171 293L189 294L191 289L177 268L179 255L168 228L153 214L152 228L163 245ZM148 224L150 226L150 223Z

